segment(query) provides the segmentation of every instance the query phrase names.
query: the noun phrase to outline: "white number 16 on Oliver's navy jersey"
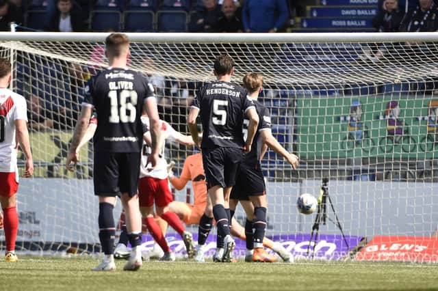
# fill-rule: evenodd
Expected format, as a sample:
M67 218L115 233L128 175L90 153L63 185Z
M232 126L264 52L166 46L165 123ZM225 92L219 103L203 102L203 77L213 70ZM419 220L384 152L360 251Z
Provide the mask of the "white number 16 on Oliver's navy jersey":
M118 105L118 96L120 97L120 107ZM110 122L134 122L136 121L136 105L137 105L137 92L133 90L122 90L117 92L116 90L111 90L108 92L108 97L110 98L111 113ZM129 102L128 102L129 98Z

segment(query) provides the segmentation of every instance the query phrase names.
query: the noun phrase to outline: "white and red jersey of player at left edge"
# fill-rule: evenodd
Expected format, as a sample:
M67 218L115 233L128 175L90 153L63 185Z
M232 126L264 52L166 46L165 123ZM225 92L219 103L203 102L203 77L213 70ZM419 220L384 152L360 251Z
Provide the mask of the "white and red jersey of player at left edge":
M0 172L16 171L15 120L27 122L27 106L23 96L0 88Z

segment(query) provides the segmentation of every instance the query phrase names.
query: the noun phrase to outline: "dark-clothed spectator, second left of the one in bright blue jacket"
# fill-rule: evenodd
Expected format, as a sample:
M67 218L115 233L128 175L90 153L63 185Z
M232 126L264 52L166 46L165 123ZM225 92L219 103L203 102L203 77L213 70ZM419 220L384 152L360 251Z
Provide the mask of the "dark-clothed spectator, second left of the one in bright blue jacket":
M216 32L218 19L222 12L217 0L203 0L204 7L196 13L193 21L190 21L190 32Z

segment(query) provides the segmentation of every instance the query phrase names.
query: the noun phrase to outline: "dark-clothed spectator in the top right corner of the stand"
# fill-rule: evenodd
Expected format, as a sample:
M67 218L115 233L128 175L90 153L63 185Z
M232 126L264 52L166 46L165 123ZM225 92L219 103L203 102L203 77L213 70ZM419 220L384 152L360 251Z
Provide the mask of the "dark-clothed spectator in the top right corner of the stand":
M407 12L400 24L400 31L437 31L438 10L433 0L420 0L419 5Z

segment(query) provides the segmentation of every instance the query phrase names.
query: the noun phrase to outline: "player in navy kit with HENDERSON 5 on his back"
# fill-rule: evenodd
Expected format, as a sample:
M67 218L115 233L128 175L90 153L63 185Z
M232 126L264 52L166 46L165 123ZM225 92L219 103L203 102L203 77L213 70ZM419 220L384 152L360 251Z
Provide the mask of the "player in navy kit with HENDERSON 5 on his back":
M247 98L247 90L231 83L233 67L234 61L229 55L216 58L214 75L217 81L207 83L198 90L188 115L188 127L193 141L202 149L208 194L218 227L218 255L215 258L222 258L222 262L231 262L235 247L230 236L229 195L244 150L250 151L259 123L253 102ZM201 114L203 125L201 143L196 126L198 114ZM246 141L242 133L244 116L249 120Z

